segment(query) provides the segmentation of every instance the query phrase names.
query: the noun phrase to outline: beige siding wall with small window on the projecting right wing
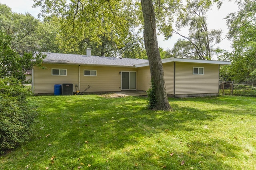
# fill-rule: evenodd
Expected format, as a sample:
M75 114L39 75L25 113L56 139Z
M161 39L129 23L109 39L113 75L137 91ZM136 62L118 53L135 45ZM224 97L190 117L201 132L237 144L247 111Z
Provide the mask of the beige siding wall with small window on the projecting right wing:
M193 67L204 67L204 75L193 74ZM218 93L218 64L177 63L175 94Z

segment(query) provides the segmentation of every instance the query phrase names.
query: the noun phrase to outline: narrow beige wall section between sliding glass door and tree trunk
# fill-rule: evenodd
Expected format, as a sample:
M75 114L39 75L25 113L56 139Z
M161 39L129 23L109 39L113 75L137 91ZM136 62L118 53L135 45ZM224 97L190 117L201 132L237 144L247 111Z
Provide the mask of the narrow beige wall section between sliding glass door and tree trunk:
M151 87L149 66L137 68L137 90L146 91Z

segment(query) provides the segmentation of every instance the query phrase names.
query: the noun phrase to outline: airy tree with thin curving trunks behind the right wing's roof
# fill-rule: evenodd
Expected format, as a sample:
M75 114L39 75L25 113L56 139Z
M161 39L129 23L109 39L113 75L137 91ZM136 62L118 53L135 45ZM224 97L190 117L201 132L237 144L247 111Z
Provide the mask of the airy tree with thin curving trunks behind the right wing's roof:
M214 49L213 43L220 41L221 29L210 30L207 24L207 12L213 4L220 5L218 0L187 0L186 5L180 8L176 27L189 27L188 35L181 35L178 31L174 33L180 35L172 49L173 55L178 58L192 58L210 60Z

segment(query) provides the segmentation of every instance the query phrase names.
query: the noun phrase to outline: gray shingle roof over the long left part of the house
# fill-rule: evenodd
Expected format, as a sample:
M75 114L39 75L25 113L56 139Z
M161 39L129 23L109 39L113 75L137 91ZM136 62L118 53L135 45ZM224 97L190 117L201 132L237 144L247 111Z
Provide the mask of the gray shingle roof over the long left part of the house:
M37 52L36 54L38 54ZM134 67L135 64L147 63L145 59L128 59L128 58L113 58L101 56L86 56L76 54L59 54L46 53L47 57L43 63L62 63L62 64L86 64L86 65L102 65L102 66L126 66Z

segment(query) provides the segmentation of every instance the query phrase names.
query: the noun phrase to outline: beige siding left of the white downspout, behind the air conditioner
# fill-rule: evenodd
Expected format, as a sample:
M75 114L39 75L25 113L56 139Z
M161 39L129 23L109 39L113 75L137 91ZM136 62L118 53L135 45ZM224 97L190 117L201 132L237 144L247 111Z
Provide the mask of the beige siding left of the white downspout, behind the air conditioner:
M34 93L54 93L54 84L78 84L78 66L42 64L46 69L34 67ZM53 75L52 68L67 69L66 76Z

